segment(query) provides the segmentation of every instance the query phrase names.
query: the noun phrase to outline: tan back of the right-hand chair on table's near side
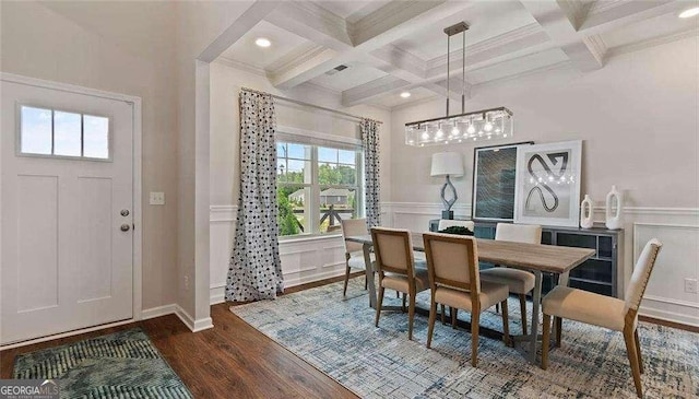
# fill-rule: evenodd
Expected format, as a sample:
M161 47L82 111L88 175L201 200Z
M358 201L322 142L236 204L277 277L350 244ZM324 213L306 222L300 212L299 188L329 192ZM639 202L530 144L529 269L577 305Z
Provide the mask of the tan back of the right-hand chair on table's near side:
M481 293L478 250L476 240L470 236L425 233L427 273L433 290L449 286L462 291Z

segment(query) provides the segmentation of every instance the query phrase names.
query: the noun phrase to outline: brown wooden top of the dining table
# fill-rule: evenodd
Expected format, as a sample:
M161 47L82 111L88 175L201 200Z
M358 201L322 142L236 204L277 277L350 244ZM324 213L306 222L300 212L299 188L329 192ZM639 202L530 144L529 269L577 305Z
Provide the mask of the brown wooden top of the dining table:
M348 242L374 244L370 235L348 236ZM422 233L411 233L413 249L425 250ZM550 273L565 273L594 255L594 249L559 247L476 238L478 260Z

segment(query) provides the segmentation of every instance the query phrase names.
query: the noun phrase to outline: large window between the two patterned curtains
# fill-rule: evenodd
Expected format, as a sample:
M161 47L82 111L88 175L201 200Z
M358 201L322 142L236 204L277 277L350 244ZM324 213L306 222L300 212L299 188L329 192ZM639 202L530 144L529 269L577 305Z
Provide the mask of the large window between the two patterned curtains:
M363 214L362 151L277 141L280 235L323 234Z

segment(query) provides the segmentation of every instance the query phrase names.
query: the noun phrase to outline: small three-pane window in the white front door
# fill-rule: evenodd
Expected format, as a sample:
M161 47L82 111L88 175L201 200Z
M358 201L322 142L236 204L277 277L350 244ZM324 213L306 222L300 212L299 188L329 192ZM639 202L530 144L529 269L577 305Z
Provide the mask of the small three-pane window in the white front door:
M21 106L20 154L109 160L109 118Z

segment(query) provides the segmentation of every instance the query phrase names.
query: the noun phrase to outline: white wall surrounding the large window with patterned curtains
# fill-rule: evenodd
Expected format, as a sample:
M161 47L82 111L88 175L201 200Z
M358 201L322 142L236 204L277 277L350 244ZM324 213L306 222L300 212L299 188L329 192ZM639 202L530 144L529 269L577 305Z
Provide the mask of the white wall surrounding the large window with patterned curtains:
M323 107L384 121L381 127L381 189L390 195L390 113L369 106L342 108L340 96L312 85L280 92L260 73L236 69L225 61L211 64L211 289L212 301L223 300L228 258L235 232L239 190L240 87L265 91ZM358 124L335 114L277 102L277 125L339 137L359 138ZM344 249L339 237L282 240L280 244L285 285L293 286L344 272Z

